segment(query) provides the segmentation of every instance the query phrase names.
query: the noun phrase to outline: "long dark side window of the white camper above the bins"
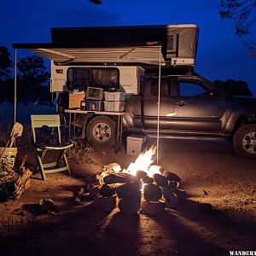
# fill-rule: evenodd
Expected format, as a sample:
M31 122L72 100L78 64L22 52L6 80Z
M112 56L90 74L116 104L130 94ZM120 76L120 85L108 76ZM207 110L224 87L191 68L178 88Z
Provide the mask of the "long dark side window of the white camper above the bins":
M69 90L86 90L87 86L119 89L118 68L81 68L70 67L67 70L67 88Z

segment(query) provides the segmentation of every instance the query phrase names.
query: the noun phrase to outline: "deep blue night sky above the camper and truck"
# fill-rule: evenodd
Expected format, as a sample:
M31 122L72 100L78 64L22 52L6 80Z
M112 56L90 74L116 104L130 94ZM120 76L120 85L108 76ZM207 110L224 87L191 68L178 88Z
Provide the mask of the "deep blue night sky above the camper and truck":
M256 41L256 27L238 38L235 23L221 20L218 0L2 0L0 44L48 43L50 27L197 24L200 38L195 71L210 80L241 79L256 96L256 57L250 58L245 41ZM18 58L27 55L18 51ZM47 63L49 67L49 61Z

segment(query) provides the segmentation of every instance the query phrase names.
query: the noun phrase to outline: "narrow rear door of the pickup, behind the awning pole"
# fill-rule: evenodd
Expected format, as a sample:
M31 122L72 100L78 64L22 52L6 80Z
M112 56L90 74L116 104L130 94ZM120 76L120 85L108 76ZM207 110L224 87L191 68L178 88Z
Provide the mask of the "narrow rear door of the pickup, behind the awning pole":
M143 92L143 123L146 130L157 129L158 78L149 79ZM162 78L160 83L160 130L172 130L173 99L171 80Z

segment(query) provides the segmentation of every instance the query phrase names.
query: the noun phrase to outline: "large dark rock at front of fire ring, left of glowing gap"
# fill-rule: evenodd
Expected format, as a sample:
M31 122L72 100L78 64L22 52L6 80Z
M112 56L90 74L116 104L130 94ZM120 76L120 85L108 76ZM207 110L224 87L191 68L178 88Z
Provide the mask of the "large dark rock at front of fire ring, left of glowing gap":
M129 197L118 199L118 207L120 212L125 214L137 213L141 207L141 192L139 191Z

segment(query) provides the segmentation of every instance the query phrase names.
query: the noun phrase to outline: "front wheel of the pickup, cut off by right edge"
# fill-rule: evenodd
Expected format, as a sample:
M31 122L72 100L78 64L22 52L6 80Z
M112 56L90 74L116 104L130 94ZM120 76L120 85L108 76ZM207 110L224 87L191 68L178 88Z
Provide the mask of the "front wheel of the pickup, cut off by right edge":
M233 145L240 156L256 158L256 125L242 125L234 135Z

